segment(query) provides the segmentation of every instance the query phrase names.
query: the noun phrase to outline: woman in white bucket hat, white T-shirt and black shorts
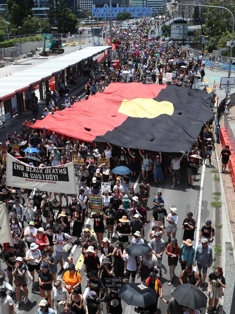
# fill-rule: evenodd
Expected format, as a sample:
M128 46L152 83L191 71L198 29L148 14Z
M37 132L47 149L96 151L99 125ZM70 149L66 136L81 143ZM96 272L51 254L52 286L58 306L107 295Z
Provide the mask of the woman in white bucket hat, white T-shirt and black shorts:
M41 251L38 249L38 245L33 242L30 244L30 249L26 253L25 261L28 262L28 270L33 277L32 290L35 288L36 283L34 282L34 270L39 274L40 262L42 260Z

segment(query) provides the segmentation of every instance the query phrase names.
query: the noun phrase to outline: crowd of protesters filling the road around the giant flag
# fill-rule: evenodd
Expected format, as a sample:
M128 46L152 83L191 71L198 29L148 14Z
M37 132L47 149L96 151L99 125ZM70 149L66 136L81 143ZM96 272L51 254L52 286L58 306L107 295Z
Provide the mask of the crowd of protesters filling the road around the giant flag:
M166 40L159 36L154 40L149 38L149 31L152 27L153 23L149 19L135 22L128 28L120 27L120 25L114 27L115 52L122 65L117 70L113 70L108 59L108 62L103 64L105 70L100 77L96 78L94 73L98 70L97 62L85 64L84 73L86 77L91 76L86 84L86 98L91 94L95 95L96 92L102 92L112 82L136 81L143 84L162 84L165 72L172 73L173 84L179 87L192 88L194 84L195 88L198 88L195 75L200 73L202 81L205 75L202 72L204 65L201 55L195 58L190 51L180 49L173 41L169 41L166 48L162 48ZM185 68L182 68L182 64ZM111 75L112 70L115 77ZM61 91L63 107L68 108L80 99L76 96L69 97L69 91L65 90L63 83L64 79L69 86L75 84L79 76L60 78L59 84L63 89L63 95ZM93 86L96 90L92 89ZM63 110L57 107L58 96L53 97L54 93L51 94L49 91L45 93L48 101L44 116L53 114L56 110ZM32 124L34 121L35 118ZM180 284L191 283L196 286L200 285L202 291L207 290L209 296L207 313L217 313L218 301L225 288L225 279L222 268L217 267L209 275L206 287L207 268L210 268L213 262L211 243L215 237L211 220L207 220L206 224L201 227L199 239L201 243L195 249L192 243L196 229L196 221L192 218L193 213L188 212L187 217L184 218L178 217L175 207L166 210L162 193L158 192L152 201L153 218L151 232L148 235L151 251L143 257L129 256L126 251L129 245L144 243L150 197L149 177L153 176L156 187L161 184L164 175L167 177L171 174L172 188L174 188L175 183L180 184L182 163L187 169L188 187L194 188L197 171L200 170L203 162L206 162L207 157L208 167L211 166L212 150L215 148L212 123L213 121L210 121L205 124L205 128L202 128L201 134L189 152L182 152L182 154L135 150L118 147L111 143L86 143L49 130L33 129L33 125L32 128L22 125L22 133L16 130L8 133L7 152L13 157L24 158L30 166L42 168L63 165L75 159L84 160L82 165L74 164L79 193L72 195L69 201L69 196L63 191L52 195L52 192L40 191L37 187L30 190L6 186L7 154L1 151L0 201L6 204L8 210L13 246L2 243L7 269L5 271L2 265L0 274L3 278L8 278L11 286L14 279L16 307L20 305L21 287L24 290L22 302L26 304L29 302L28 286L30 285L30 289L34 290L38 285L43 298L39 303L39 314L74 312L80 314L85 311L86 314L99 313L102 310L102 301L106 304L107 313L121 314L123 310L118 289L109 290L104 284L104 279L114 275L125 279L126 284L129 283L130 277L132 282L141 278L143 283L157 292L155 304L150 306L148 311L135 308L137 313L156 313L159 290L160 298L169 303L167 313L174 313L175 300L171 299L168 302L163 298L163 286L157 278L158 273L159 278L163 276L162 257L166 254L170 274L168 284L172 284L175 268L179 262L182 269L179 276ZM25 142L22 149L18 152L13 151L12 144L22 142ZM37 152L24 153L23 149L27 146L36 148ZM229 149L225 148L221 153L225 165L224 170L229 152ZM91 156L93 162L87 162L86 157ZM29 160L27 157L34 158ZM107 161L100 164L100 158L105 158ZM112 169L116 166L127 166L131 170L130 175L115 176ZM141 170L142 182L138 188L134 188L131 180L138 176L139 170ZM110 192L102 193L101 182L111 183ZM103 198L102 213L94 213L90 209L91 196ZM83 228L86 218L91 219L96 236L91 233L90 228ZM167 227L165 227L165 220ZM177 225L180 222L182 222L184 233L183 239L177 240ZM168 236L167 245L162 239L165 228ZM115 233L118 242L114 247L112 243ZM68 258L68 247L71 242L77 247L82 247L85 278L81 278L80 273L75 269L75 264L71 263ZM63 261L68 263L68 270L65 270ZM60 264L59 272L58 263ZM192 270L192 265L197 265L198 273ZM86 300L82 296L84 292L81 289L82 280L86 282L85 288L89 289ZM1 288L0 296L2 303L8 304L9 313L12 314L13 300L6 294L6 289ZM191 313L197 310L182 306L179 309L179 313L183 311Z

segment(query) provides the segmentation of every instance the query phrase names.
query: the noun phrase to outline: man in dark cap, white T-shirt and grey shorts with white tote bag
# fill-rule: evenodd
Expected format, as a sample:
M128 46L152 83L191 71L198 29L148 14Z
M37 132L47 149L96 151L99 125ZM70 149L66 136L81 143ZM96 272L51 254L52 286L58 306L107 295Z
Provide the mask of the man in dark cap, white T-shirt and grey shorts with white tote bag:
M56 245L56 249L55 249L56 259L57 261L60 262L60 267L61 267L58 275L62 274L63 271L65 270L63 267L62 258L65 262L68 262L70 264L70 261L68 259L69 252L64 252L63 245L67 244L71 240L72 240L72 237L68 235L67 233L62 234L62 227L57 226L57 228L55 229L55 235L53 236L53 243Z

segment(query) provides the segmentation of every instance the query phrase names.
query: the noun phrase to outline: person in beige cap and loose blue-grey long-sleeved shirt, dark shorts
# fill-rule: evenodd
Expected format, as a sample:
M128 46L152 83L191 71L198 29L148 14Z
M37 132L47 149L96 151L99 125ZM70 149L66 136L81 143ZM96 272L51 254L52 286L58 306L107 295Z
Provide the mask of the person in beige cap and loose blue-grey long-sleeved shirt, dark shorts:
M202 271L201 290L205 291L207 268L210 268L213 263L212 247L208 245L208 240L206 238L202 239L201 244L199 244L196 248L196 252L193 258L193 265L196 266L196 263L200 278Z

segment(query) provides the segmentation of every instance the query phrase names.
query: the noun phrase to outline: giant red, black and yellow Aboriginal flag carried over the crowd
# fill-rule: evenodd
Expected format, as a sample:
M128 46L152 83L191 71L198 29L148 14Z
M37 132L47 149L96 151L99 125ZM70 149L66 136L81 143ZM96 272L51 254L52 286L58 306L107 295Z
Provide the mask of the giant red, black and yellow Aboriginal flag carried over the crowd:
M187 151L205 121L211 95L172 85L113 83L103 93L34 124L88 142L162 152Z

